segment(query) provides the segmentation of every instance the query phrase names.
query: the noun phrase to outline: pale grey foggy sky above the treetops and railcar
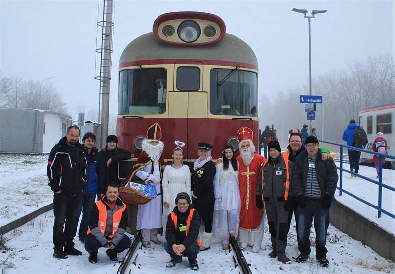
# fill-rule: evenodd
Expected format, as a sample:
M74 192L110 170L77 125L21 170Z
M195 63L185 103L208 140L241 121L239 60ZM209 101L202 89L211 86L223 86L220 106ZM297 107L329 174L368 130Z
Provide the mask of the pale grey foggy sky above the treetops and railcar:
M48 81L62 94L74 118L79 111L98 108L99 81L94 79L98 3L0 0L1 72L37 81L53 77ZM294 7L328 10L312 19L313 78L343 70L348 62L369 55L394 56L394 0L115 0L110 113L117 114L123 49L151 32L155 19L166 12L201 11L221 17L227 32L244 40L257 56L259 101L308 86L308 20L291 12Z

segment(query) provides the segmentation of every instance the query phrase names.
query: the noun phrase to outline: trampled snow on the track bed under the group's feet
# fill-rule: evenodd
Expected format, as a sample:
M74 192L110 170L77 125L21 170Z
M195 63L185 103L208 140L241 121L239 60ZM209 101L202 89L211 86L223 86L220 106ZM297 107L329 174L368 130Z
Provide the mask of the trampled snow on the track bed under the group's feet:
M69 256L65 260L52 257L52 226L53 212L49 211L40 215L24 226L4 235L0 240L0 265L10 274L13 273L59 273L59 274L85 274L85 273L116 273L120 263L111 262L105 254L105 249L99 249L97 264L88 262L88 253L83 244L76 237L76 248L83 252L82 256ZM288 235L287 254L292 263L284 265L272 259L267 254L271 251L269 233L266 227L262 250L259 253L251 252L251 247L243 251L246 260L251 264L254 274L259 273L394 273L395 264L384 259L368 246L353 240L348 235L340 232L333 226L329 227L327 248L330 265L322 268L315 259L314 232L311 233L312 253L307 262L298 264L291 257L298 255L295 227L292 225ZM233 252L223 251L219 240L214 239L211 249L202 251L197 255L200 270L192 271L188 268L186 258L183 263L172 269L167 269L165 264L170 257L164 248L155 245L152 250L141 248L132 265L132 273L239 273L235 265ZM124 251L118 254L123 258Z

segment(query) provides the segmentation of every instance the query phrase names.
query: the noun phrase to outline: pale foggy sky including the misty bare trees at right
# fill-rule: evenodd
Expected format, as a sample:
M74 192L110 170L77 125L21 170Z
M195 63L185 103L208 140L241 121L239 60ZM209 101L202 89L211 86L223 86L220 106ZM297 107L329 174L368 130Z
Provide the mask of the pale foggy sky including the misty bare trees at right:
M56 91L67 114L77 119L85 112L86 120L97 121L99 1L0 0L1 77L20 77L40 91ZM324 139L340 141L362 107L395 102L394 0L115 0L110 126L116 122L118 62L126 45L151 32L163 13L201 11L221 17L227 32L255 52L260 128L275 124L285 142L290 128L308 124L299 103L299 95L309 93L308 20L292 8L328 10L311 21L313 95L322 95L324 102L313 122L320 138L323 131Z

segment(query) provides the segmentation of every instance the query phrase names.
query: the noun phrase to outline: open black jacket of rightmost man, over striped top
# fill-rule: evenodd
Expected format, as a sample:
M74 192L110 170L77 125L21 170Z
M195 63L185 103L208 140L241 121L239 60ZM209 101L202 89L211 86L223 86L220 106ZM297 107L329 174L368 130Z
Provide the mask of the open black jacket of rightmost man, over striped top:
M339 176L337 175L337 169L335 162L332 158L326 161L321 159L322 153L318 149L316 156L315 169L316 176L321 190L321 199L324 195L334 196L336 191L337 181ZM304 195L306 189L307 172L309 169L309 159L307 151L303 151L300 154L300 159L294 163L292 183L290 194L293 196Z

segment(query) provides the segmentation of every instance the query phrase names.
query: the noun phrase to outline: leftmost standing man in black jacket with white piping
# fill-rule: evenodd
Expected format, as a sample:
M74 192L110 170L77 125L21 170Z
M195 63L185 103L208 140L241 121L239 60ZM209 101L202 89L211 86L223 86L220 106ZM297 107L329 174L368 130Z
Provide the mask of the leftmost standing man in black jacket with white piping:
M68 127L66 136L51 149L48 158L48 185L54 193L53 256L58 259L66 259L67 254L82 255L73 242L79 219L79 201L86 186L87 162L84 148L78 141L79 135L79 127Z

